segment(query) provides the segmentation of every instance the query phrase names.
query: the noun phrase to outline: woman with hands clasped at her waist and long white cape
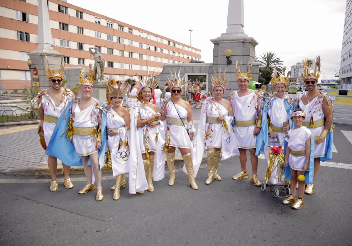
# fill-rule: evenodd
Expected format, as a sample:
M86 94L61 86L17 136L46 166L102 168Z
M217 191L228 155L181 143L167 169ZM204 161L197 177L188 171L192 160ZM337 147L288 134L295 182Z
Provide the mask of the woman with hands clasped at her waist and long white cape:
M164 178L165 161L162 153L164 142L164 125L159 121L160 114L156 105L149 102L152 91L158 84L155 77L149 76L140 81L138 102L131 109L131 152L130 163L143 163L146 171L147 187L149 192L154 192L153 180ZM136 154L135 154L136 153ZM129 181L130 183L131 181ZM145 189L138 193L143 194Z

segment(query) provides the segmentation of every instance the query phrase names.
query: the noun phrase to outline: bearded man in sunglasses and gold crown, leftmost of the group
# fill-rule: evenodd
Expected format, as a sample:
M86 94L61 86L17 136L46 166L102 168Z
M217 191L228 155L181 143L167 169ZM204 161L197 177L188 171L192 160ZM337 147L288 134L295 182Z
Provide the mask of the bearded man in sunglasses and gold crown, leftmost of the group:
M61 71L49 69L48 57L45 56L44 68L51 87L39 92L38 95L32 100L32 102L38 103L38 115L40 118L38 134L40 135L40 142L42 143L44 149L46 149L46 146L49 145L49 141L56 126L57 119L60 117L66 106L75 97L72 91L61 86L64 67L65 63L62 58ZM43 137L45 142L42 141ZM48 167L51 176L51 184L49 190L56 191L58 189L58 183L56 180L56 157L51 155L48 156ZM73 188L73 184L70 180L70 166L66 166L64 163L62 163L62 167L64 170L64 186L66 189L71 189Z

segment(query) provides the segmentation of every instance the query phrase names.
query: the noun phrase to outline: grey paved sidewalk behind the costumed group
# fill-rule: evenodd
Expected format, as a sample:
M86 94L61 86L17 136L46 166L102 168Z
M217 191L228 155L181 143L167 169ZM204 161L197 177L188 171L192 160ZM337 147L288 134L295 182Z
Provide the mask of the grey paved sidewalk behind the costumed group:
M199 119L200 110L193 110ZM194 120L198 128L198 120ZM38 124L0 127L0 173L7 175L49 175L48 157L40 145ZM204 156L207 153L205 151ZM175 164L183 165L180 151L176 148ZM203 157L203 161L205 158ZM58 160L57 174L63 174L62 162ZM112 170L103 170L111 172ZM83 167L72 167L72 174L83 173Z

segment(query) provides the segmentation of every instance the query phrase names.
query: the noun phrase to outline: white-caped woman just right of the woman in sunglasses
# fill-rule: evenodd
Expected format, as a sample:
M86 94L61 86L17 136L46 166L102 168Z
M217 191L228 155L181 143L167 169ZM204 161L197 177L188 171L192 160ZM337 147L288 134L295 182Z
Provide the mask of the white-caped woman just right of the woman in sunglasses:
M206 145L208 150L208 178L205 181L206 184L211 184L214 179L221 180L217 172L221 149L222 160L239 155L232 126L232 106L230 102L222 98L226 90L226 84L230 79L225 79L225 72L221 77L221 70L219 77L215 70L214 73L215 78L212 76L214 97L208 97L202 105L196 138L197 151L194 158L198 168L202 162L204 145Z

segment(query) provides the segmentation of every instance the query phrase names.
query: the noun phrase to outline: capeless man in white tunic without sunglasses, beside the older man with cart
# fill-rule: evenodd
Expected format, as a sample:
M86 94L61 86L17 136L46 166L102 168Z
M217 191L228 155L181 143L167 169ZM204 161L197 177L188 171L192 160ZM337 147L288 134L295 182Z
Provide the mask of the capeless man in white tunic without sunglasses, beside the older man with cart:
M250 181L254 185L260 186L257 177L258 156L256 156L256 135L259 133L262 125L262 116L260 114L261 97L258 91L248 89L248 83L252 78L251 67L247 64L247 73L240 72L238 61L236 64L238 91L233 91L228 96L228 100L232 104L234 122L235 122L235 138L240 153L240 163L242 171L233 176L232 179L248 179L247 173L247 149L249 150L252 163L252 176Z

